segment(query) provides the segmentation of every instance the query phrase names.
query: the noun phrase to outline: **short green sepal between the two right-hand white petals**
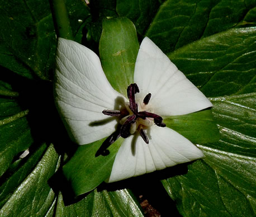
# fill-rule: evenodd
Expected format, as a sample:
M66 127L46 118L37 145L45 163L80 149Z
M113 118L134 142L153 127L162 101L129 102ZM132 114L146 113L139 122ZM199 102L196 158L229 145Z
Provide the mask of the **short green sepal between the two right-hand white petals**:
M163 117L164 124L177 131L194 144L219 141L219 129L211 110L194 112L188 115Z

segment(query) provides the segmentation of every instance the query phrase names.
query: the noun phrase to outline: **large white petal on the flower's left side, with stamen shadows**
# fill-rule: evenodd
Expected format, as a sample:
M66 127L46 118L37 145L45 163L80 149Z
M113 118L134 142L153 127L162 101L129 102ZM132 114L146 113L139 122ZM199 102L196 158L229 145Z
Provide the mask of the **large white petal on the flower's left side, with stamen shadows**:
M121 101L124 97L113 90L98 56L77 42L59 38L55 102L70 137L83 145L112 134L116 119L102 111L118 109Z

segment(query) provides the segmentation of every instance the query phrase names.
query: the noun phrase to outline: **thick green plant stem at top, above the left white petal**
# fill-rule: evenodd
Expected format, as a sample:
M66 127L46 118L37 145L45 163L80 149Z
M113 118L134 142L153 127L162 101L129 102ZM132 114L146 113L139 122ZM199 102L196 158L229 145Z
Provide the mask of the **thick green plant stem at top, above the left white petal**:
M57 37L73 40L65 0L49 0Z

